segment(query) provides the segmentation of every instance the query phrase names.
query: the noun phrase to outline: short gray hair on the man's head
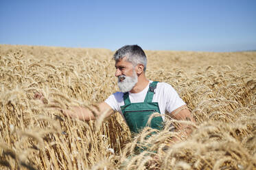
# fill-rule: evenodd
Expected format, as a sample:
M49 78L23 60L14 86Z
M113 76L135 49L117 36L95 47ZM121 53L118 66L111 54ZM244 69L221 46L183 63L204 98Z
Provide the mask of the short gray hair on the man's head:
M137 64L143 64L143 71L146 71L147 57L139 45L125 45L124 47L118 49L114 54L114 60L116 62L124 57L126 57L127 61L131 62L133 66L136 66Z

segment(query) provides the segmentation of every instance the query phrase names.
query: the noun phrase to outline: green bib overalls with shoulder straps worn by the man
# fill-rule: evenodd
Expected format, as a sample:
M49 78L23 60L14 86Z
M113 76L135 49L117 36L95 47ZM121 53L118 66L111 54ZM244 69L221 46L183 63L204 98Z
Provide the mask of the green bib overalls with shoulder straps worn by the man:
M147 125L148 119L153 112L160 113L158 102L152 102L157 83L158 82L150 83L144 102L131 104L129 93L124 93L124 106L121 106L121 112L124 114L124 118L126 119L126 123L132 135L139 134L146 126L157 130L162 129L162 117L153 117L152 121Z

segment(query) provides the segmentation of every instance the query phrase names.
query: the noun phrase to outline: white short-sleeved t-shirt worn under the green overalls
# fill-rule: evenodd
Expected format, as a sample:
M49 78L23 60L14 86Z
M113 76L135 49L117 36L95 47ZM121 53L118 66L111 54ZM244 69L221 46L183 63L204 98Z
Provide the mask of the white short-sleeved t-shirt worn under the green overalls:
M151 82L152 81L150 81L150 83ZM130 103L143 102L148 93L148 88L149 84L139 93L129 92ZM170 84L167 84L165 82L159 82L154 92L155 94L152 99L152 102L159 103L159 110L161 114L165 114L165 112L172 112L177 108L185 105L185 102L181 99L181 97L178 96L178 93ZM124 93L116 92L110 95L105 100L106 104L108 104L110 108L112 108L116 112L121 113L122 115L123 113L121 112L121 106L124 106L123 95Z

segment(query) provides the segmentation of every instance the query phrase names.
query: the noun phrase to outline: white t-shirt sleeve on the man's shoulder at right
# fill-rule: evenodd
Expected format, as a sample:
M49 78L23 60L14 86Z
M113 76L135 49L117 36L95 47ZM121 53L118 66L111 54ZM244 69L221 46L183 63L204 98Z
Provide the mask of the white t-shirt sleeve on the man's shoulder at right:
M170 84L167 84L165 87L165 99L167 101L165 110L170 113L185 105L183 99L179 97L176 90Z

